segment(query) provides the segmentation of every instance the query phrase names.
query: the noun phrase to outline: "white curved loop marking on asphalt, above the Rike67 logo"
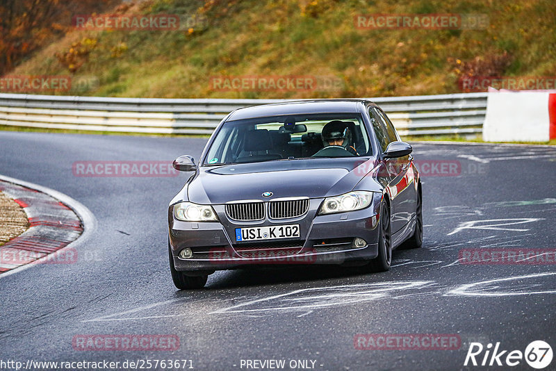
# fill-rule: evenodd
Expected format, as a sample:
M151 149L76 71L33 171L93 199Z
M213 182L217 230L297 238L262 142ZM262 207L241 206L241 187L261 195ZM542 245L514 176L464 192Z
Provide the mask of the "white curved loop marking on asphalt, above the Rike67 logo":
M532 294L556 294L556 285L554 280L549 280L545 283L538 283L535 281L532 283L523 283L523 281L527 281L529 279L553 275L556 275L556 272L527 274L525 276L466 283L465 285L453 288L445 293L444 296L501 297ZM539 290L539 287L546 283L548 283L548 288L545 290Z

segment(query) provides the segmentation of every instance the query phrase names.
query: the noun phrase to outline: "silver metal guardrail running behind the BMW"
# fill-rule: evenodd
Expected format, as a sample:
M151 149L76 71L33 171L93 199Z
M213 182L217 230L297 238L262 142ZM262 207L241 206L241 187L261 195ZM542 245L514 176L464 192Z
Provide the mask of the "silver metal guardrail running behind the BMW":
M400 135L481 133L486 93L370 98ZM284 99L150 99L0 94L0 125L208 135L222 118L245 106Z

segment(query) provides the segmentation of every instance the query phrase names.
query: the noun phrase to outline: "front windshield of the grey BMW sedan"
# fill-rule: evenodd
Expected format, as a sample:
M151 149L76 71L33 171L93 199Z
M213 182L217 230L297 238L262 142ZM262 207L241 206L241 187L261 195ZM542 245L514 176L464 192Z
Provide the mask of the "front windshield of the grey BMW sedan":
M372 154L358 113L284 115L224 123L204 165Z

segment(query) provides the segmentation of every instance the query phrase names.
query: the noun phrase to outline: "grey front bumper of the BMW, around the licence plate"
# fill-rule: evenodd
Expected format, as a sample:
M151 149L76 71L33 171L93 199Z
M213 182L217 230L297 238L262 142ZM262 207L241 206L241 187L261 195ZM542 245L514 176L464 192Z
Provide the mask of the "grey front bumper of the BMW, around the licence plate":
M317 215L322 199L311 199L309 211L301 217L282 220L265 218L258 222L234 222L215 205L220 222L182 222L168 210L170 250L178 271L213 272L247 265L341 264L370 260L378 256L379 204L376 194L368 208L347 213ZM236 242L235 229L246 226L299 224L299 238ZM366 246L354 247L354 238ZM179 258L182 249L193 251L191 258Z

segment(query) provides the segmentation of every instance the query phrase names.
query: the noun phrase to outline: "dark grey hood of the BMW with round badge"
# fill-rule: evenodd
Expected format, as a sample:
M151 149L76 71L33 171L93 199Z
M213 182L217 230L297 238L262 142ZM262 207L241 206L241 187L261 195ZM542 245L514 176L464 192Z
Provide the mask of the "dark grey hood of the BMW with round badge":
M328 197L350 192L376 160L366 158L311 158L200 167L190 179L189 201L224 204L243 199ZM378 189L378 188L377 188ZM263 197L263 192L272 192Z

